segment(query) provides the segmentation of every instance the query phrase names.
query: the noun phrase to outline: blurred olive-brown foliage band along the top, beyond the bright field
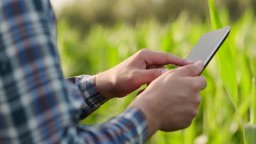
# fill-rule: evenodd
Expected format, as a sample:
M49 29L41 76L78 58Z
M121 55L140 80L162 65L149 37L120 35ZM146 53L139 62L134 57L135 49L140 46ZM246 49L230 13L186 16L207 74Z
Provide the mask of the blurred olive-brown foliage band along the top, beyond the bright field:
M54 1L54 0L53 0ZM206 20L208 1L206 0L73 0L60 11L58 18L84 33L92 25L100 23L113 26L116 22L136 25L137 22L154 19L166 23L176 19L182 11L189 17ZM236 21L248 8L256 7L254 0L216 0L217 8L228 10L230 20Z

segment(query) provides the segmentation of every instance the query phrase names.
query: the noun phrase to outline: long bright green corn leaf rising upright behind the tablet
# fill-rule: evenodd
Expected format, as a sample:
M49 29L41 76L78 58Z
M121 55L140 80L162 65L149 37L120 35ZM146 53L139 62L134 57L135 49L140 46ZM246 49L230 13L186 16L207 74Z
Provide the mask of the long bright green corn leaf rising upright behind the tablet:
M209 6L213 28L222 28L223 25L219 19L213 0L209 0ZM217 54L219 57L220 76L222 77L224 87L226 88L226 91L228 91L228 93L231 95L234 104L237 105L238 94L236 67L231 47L228 45L228 43L224 43Z

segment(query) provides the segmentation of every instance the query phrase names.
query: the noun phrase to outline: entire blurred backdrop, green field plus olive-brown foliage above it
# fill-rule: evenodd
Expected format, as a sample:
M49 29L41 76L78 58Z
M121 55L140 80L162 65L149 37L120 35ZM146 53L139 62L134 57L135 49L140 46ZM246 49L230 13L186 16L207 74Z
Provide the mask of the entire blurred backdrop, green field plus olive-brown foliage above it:
M237 87L237 95L231 98L243 122L255 123L256 1L214 2L223 25L232 27L228 43L237 81L231 85ZM58 44L66 77L97 74L143 48L185 58L201 35L213 30L206 0L52 0L51 3L57 15ZM220 76L220 63L218 56L214 57L203 73L208 87L201 93L200 113L191 127L174 133L159 131L147 143L243 143L241 119L228 97L231 94L225 78ZM230 65L226 63L226 67ZM118 115L138 91L108 101L83 123L100 124Z

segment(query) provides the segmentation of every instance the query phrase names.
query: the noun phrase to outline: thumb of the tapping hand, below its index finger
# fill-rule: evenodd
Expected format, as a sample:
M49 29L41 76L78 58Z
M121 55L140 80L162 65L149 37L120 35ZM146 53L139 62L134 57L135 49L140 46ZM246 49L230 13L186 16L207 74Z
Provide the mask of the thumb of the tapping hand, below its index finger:
M150 83L160 75L164 74L167 70L168 69L166 68L139 70L137 73L137 81L141 85Z

